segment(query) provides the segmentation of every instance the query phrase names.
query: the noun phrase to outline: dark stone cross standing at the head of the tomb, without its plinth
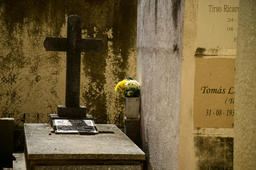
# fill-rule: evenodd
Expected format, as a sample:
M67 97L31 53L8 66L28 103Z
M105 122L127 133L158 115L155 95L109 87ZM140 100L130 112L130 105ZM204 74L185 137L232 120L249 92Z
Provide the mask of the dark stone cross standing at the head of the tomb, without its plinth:
M82 38L81 25L82 17L71 15L68 17L67 38L45 37L44 40L44 48L46 51L67 52L66 107L79 107L80 105L81 52L100 53L103 49L103 42L101 39ZM59 113L58 116L60 116ZM74 115L68 117L82 116Z

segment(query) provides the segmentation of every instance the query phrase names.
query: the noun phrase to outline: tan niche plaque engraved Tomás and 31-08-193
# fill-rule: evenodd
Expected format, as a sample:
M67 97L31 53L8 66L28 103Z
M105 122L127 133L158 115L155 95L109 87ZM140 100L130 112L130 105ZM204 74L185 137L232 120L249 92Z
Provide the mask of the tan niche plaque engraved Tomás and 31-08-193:
M195 128L233 128L235 58L196 58Z

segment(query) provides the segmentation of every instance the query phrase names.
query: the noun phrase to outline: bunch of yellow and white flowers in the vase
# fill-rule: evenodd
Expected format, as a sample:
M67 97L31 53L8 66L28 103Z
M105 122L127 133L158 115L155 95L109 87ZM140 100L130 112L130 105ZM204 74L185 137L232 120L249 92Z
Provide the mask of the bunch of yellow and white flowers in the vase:
M123 97L140 97L140 83L128 77L119 81L115 87L115 91L120 89Z

